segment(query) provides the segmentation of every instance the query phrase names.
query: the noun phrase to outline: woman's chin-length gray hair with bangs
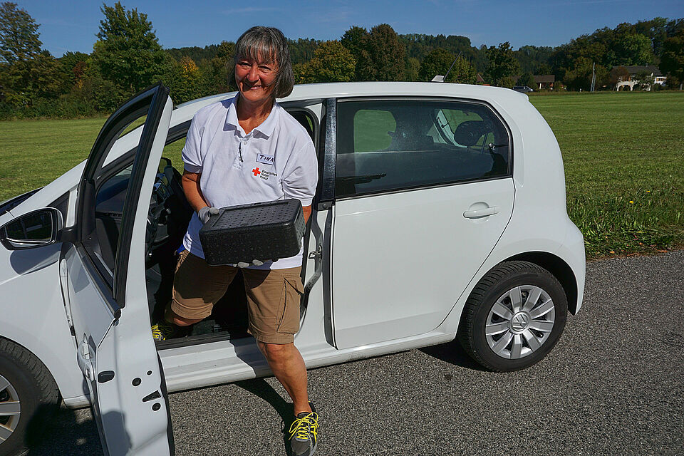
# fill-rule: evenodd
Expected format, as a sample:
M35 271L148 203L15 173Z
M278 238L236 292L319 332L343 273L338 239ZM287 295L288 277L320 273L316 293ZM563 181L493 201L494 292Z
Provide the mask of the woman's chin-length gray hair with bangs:
M259 61L259 56L269 63L276 63L278 74L271 92L273 98L284 98L292 93L294 73L290 51L283 32L274 27L256 26L242 33L235 43L234 63L241 58Z

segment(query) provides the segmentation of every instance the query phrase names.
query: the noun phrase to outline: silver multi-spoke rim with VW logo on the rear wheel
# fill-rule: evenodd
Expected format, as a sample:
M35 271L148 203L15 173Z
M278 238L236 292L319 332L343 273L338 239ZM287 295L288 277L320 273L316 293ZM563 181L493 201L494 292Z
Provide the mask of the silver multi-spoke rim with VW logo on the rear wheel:
M489 309L484 334L497 356L519 359L549 340L555 321L551 296L539 286L521 285L502 294Z

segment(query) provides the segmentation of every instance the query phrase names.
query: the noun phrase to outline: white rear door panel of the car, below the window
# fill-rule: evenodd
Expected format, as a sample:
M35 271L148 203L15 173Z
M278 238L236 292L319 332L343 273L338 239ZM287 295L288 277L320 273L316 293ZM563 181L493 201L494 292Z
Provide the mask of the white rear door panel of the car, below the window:
M439 326L504 231L513 198L504 178L336 202L336 347ZM498 212L467 219L475 204Z

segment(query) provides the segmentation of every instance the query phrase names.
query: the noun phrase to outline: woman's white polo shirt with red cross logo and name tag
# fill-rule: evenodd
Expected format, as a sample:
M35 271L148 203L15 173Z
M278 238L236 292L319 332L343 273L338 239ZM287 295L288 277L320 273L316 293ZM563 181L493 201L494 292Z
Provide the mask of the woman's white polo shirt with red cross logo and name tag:
M185 169L201 173L199 188L210 207L296 198L311 205L318 162L309 133L278 103L249 135L237 120L237 97L200 109L192 118L182 157ZM199 242L202 222L192 215L183 246L204 258ZM264 260L262 258L257 258ZM302 249L290 258L266 261L252 269L301 266Z

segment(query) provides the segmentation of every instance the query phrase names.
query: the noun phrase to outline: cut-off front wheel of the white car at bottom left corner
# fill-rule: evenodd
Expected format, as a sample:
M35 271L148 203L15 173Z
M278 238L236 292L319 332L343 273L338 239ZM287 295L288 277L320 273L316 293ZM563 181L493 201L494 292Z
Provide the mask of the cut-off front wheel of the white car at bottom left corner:
M0 456L23 455L29 435L44 430L58 400L57 385L45 365L26 348L0 339Z

